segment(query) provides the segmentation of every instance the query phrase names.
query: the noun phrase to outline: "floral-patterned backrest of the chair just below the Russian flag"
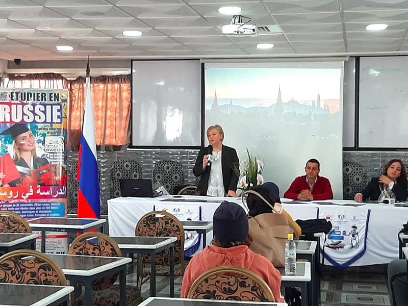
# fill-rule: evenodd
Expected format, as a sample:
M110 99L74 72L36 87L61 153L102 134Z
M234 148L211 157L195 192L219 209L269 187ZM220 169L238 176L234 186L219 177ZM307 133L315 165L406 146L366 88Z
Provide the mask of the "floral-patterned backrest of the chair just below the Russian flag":
M118 244L108 235L99 232L85 233L72 241L68 254L87 256L122 257ZM117 278L117 273L95 279L93 290L104 290L111 287Z

